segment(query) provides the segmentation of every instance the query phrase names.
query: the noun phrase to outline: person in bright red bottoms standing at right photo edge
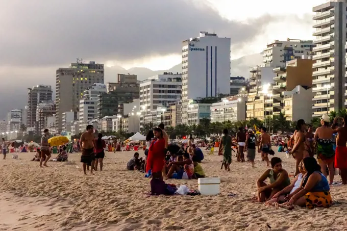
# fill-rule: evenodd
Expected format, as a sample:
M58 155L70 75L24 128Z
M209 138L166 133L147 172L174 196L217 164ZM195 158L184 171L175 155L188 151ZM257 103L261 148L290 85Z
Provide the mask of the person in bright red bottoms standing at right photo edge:
M338 118L334 119L331 128L337 133L335 150L335 168L340 169L342 184L347 184L347 116L343 118L342 127L337 127ZM337 127L337 128L336 128Z

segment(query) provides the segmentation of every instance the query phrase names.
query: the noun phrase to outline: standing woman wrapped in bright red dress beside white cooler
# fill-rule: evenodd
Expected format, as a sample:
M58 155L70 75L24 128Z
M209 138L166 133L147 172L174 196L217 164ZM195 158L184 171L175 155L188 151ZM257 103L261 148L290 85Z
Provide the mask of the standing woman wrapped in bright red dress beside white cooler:
M148 149L146 172L152 169L153 178L162 178L161 171L165 164L165 140L163 131L157 127L153 130L154 139Z

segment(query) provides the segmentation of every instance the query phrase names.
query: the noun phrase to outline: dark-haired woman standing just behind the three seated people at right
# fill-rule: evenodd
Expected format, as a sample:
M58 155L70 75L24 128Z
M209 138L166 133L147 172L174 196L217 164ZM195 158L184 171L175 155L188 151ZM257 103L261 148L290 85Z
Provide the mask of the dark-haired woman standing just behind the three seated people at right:
M295 158L295 173L294 175L298 175L300 173L299 171L299 164L304 159L304 157L309 157L309 151L307 150L305 146L306 142L306 123L303 119L299 119L298 123L296 125L296 133L294 137L294 146L293 149L290 151L291 155Z

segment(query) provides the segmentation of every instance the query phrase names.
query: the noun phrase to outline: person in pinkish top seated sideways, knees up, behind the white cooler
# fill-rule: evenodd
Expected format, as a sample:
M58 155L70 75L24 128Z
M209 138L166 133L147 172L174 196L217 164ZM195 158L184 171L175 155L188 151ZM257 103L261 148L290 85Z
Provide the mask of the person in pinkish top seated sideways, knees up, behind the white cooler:
M180 167L181 165L183 165L183 169ZM194 164L187 152L183 154L183 161L171 162L168 168L169 172L166 175L168 178L182 179L185 178L184 175L187 175L186 177L191 179L194 174Z

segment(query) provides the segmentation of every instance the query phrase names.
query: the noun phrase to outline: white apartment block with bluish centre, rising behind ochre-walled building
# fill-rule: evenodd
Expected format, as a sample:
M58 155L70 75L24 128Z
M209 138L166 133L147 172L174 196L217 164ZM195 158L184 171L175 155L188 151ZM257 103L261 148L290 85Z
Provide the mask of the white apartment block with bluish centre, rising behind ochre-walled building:
M287 39L275 40L267 44L263 52L264 67L285 67L286 62L293 59L301 59L302 55L311 55L312 40Z

